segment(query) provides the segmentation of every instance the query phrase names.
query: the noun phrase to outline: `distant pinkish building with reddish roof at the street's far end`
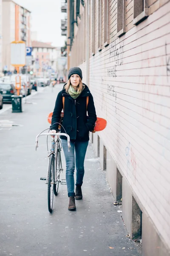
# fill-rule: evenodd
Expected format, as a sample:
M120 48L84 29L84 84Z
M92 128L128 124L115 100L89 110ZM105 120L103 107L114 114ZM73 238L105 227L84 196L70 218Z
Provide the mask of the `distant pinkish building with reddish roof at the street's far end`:
M57 59L61 56L61 48L51 43L32 41L32 71L36 76L49 77L57 73Z

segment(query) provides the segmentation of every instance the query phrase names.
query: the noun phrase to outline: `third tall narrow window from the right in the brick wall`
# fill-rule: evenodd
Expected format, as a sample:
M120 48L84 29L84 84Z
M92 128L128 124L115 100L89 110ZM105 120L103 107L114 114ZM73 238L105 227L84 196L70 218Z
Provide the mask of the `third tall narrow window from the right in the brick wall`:
M109 45L109 0L104 0L104 46Z

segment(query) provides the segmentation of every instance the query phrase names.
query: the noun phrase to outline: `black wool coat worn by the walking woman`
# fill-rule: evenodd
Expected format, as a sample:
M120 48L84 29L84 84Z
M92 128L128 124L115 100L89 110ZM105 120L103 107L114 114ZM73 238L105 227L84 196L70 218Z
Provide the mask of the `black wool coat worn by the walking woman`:
M85 85L85 84L83 84ZM86 109L86 100L88 100L88 108ZM74 141L88 141L89 131L94 130L96 122L96 110L94 107L93 96L91 95L88 86L85 85L85 89L77 97L73 99L68 93L66 93L64 87L62 91L58 93L50 130L58 130L58 124L60 121L60 113L62 112L62 97L65 97L64 103L64 117L62 119L61 133L66 133ZM87 118L88 111L88 118ZM65 130L64 130L65 129ZM62 139L66 139L65 136L61 136Z

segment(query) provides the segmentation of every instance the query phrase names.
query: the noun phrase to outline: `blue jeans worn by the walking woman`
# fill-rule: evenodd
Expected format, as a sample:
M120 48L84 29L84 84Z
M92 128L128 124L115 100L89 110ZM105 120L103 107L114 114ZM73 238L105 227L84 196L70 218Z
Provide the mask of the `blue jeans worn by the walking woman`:
M71 141L71 148L68 151L67 140L62 140L62 148L65 154L66 162L66 183L68 197L74 196L74 169L76 158L76 186L82 186L82 181L85 173L84 161L85 153L88 147L88 141Z

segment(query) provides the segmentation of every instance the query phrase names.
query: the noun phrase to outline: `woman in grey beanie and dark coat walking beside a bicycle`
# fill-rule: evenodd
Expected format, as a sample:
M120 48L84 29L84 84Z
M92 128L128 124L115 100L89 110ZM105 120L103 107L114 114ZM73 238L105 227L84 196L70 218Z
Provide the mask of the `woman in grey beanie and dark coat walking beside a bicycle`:
M63 106L64 97L64 106ZM88 98L88 100L87 100ZM94 130L96 111L93 96L87 85L82 83L82 70L72 67L68 71L68 83L58 93L51 120L51 132L56 133L60 113L64 110L61 132L70 136L71 148L68 151L66 137L61 136L66 161L66 183L69 197L68 210L75 210L75 199L82 199L84 160L88 147L89 131ZM88 111L88 119L87 119ZM76 160L76 194L74 193L74 169Z

